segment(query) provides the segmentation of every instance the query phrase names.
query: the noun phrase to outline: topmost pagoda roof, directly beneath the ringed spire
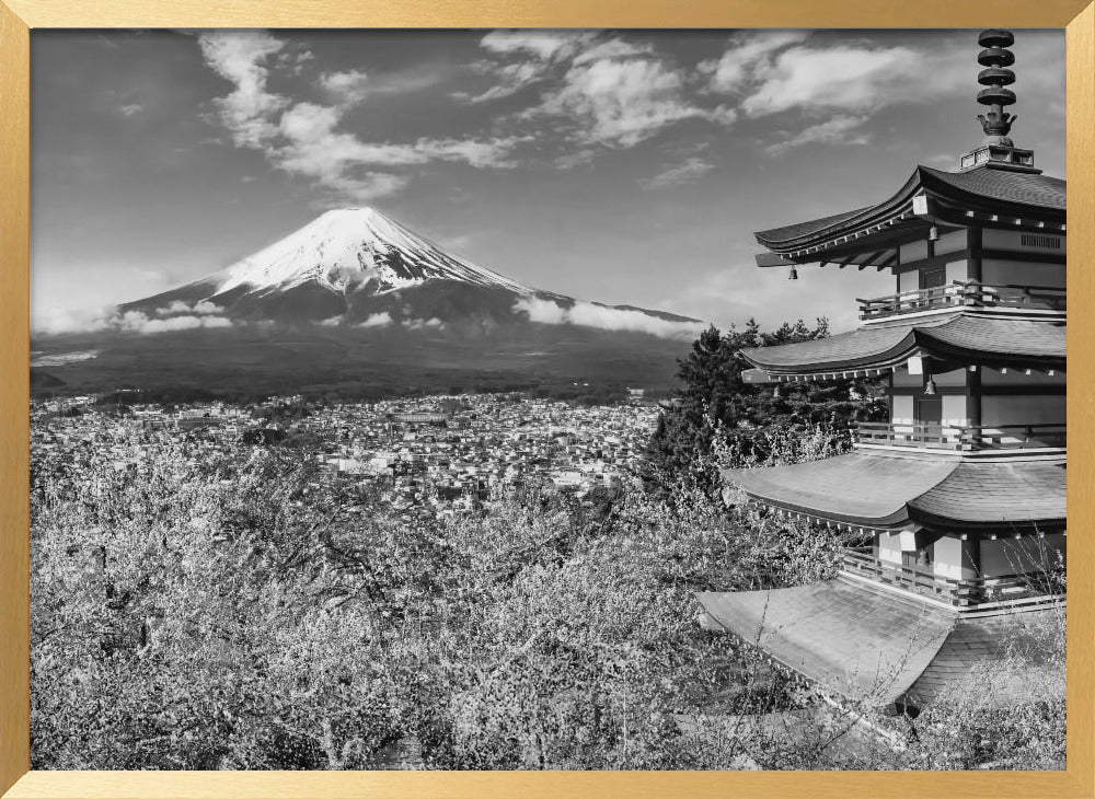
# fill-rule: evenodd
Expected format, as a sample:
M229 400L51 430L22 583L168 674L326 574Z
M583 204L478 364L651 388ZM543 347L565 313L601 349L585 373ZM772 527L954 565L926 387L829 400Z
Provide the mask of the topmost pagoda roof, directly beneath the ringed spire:
M892 197L873 206L754 233L773 253L809 263L842 251L891 248L923 238L937 217L952 224L1008 229L1063 230L1065 181L1049 175L980 166L944 172L918 166ZM913 198L925 195L933 219L913 211ZM873 263L873 262L871 262Z

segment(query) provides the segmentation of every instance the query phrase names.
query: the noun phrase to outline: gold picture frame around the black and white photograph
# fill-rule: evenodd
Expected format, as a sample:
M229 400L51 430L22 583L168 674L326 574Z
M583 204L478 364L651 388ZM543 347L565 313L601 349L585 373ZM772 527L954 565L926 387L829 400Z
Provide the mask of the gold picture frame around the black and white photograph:
M1095 313L1073 313L1068 413L1071 602L1068 769L954 773L30 772L30 30L48 27L1063 27L1069 290L1095 310L1095 4L1087 0L0 0L0 792L30 797L1093 797L1095 796ZM1088 447L1088 444L1093 444Z

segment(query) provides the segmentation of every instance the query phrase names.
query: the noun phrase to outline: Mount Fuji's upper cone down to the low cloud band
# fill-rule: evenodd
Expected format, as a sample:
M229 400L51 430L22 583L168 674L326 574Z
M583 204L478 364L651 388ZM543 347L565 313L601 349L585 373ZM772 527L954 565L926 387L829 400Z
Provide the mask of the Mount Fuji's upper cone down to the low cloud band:
M395 325L451 335L539 323L690 337L701 324L522 286L372 208L327 211L221 271L119 310L150 320Z

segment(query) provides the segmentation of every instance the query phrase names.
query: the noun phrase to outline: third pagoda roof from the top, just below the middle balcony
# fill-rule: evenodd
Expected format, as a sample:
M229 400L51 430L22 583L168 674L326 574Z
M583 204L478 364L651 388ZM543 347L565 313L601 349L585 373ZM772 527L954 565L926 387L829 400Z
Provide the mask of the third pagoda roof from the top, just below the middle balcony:
M872 450L725 470L723 479L775 508L876 530L1029 532L1065 521L1063 456L989 461Z

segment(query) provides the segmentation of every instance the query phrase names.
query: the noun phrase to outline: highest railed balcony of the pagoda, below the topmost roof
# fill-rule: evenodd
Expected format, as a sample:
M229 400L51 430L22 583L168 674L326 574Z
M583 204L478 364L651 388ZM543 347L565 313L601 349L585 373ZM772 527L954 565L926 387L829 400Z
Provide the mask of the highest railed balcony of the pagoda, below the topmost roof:
M860 303L860 321L940 309L1017 309L1022 311L1067 311L1067 290L1051 286L990 286L976 280L955 281L918 291L902 291Z

